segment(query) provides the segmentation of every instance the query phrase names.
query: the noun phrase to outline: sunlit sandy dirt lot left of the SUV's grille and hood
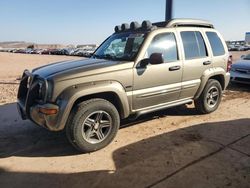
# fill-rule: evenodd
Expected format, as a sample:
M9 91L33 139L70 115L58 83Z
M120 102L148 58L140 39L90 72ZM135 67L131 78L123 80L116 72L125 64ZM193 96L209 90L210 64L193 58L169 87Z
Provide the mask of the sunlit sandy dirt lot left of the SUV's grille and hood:
M19 79L25 69L80 59L72 56L30 55L0 52L0 105L15 102Z

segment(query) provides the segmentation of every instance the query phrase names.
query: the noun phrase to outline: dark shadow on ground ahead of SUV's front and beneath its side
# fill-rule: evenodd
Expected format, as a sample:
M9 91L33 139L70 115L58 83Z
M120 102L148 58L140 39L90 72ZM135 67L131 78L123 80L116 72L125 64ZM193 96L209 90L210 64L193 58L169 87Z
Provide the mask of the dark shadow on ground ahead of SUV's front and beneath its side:
M166 116L194 115L195 109L185 106L143 115L136 120L126 119L121 128ZM55 157L80 154L68 142L65 131L50 132L18 115L16 103L0 106L0 158L11 156ZM62 147L63 146L63 147Z

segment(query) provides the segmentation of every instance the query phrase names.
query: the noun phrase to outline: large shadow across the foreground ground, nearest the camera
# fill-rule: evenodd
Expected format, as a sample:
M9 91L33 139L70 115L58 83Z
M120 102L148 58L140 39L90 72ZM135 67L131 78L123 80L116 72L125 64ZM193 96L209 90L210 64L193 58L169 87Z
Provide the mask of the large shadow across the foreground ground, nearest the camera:
M115 150L116 170L79 173L9 172L3 187L247 187L250 119L193 125ZM26 153L27 154L27 153Z

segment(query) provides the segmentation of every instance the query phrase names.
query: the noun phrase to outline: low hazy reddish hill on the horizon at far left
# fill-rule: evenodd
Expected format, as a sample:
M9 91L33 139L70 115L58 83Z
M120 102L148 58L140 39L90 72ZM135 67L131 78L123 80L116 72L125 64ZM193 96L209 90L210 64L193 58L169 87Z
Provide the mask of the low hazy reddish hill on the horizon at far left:
M6 41L0 42L0 48L27 48L30 45L34 45L35 48L42 49L54 49L54 48L65 48L65 45L61 44L35 44L25 41Z

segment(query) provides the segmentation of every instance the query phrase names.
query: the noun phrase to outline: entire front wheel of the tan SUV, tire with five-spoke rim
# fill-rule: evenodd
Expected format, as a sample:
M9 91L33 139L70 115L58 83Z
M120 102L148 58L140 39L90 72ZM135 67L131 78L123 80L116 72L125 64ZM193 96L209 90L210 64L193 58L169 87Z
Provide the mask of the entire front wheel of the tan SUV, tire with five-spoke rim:
M66 125L69 141L82 152L104 148L115 138L120 117L115 106L104 99L77 105Z

